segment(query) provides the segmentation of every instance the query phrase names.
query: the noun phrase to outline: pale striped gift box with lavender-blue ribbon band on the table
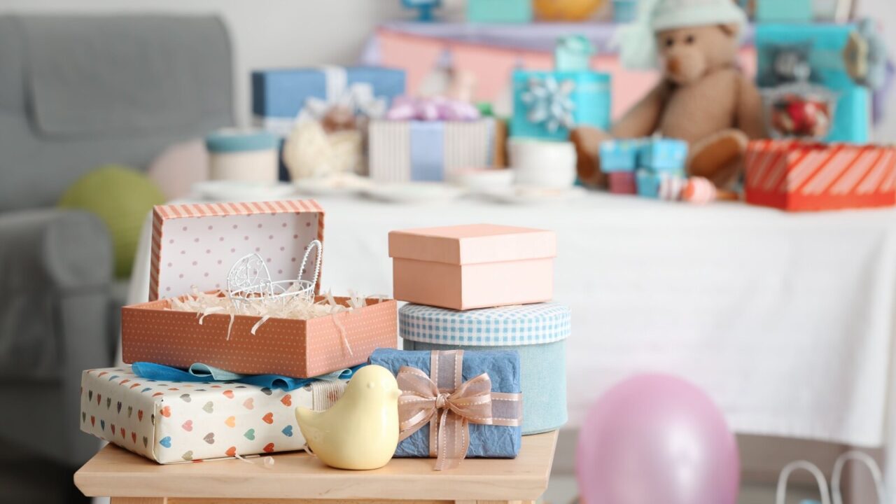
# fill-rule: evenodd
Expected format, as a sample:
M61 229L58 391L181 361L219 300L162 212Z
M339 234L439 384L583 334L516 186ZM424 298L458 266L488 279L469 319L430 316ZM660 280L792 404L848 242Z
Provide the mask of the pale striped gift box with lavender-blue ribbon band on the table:
M370 177L379 182L442 181L455 169L490 166L495 120L371 121Z

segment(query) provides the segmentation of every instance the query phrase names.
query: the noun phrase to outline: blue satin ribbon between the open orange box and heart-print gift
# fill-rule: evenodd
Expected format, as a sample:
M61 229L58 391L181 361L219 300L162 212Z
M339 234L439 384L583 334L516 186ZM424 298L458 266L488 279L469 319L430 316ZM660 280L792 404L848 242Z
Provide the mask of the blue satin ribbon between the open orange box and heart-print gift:
M224 369L218 369L207 364L202 364L202 362L196 362L191 365L189 369L177 369L152 362L134 362L134 364L131 364L131 369L134 371L134 374L140 378L159 381L235 381L257 387L280 388L289 391L305 387L315 381L349 379L355 374L355 371L362 366L364 366L364 364L355 366L354 368L333 371L332 373L327 373L314 378L291 378L280 375L241 375Z

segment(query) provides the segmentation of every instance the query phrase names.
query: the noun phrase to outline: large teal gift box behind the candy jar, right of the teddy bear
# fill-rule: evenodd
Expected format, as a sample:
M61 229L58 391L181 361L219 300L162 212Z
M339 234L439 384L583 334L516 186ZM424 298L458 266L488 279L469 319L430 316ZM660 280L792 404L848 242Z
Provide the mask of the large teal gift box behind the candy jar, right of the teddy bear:
M837 95L828 143L871 140L871 91L853 81L843 61L851 24L759 24L756 26L757 75L760 86L773 80L775 59L784 51L805 57L809 82Z

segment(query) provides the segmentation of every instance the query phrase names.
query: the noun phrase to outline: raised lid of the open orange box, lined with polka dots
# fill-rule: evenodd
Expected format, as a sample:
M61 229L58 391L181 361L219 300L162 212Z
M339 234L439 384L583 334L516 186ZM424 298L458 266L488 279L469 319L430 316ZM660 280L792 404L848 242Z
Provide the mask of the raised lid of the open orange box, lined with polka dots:
M271 280L295 279L314 239L323 243L323 208L314 200L156 206L149 300L187 294L194 286L225 289L230 268L253 253L262 256ZM307 280L314 274L312 260ZM315 292L319 288L320 278Z

